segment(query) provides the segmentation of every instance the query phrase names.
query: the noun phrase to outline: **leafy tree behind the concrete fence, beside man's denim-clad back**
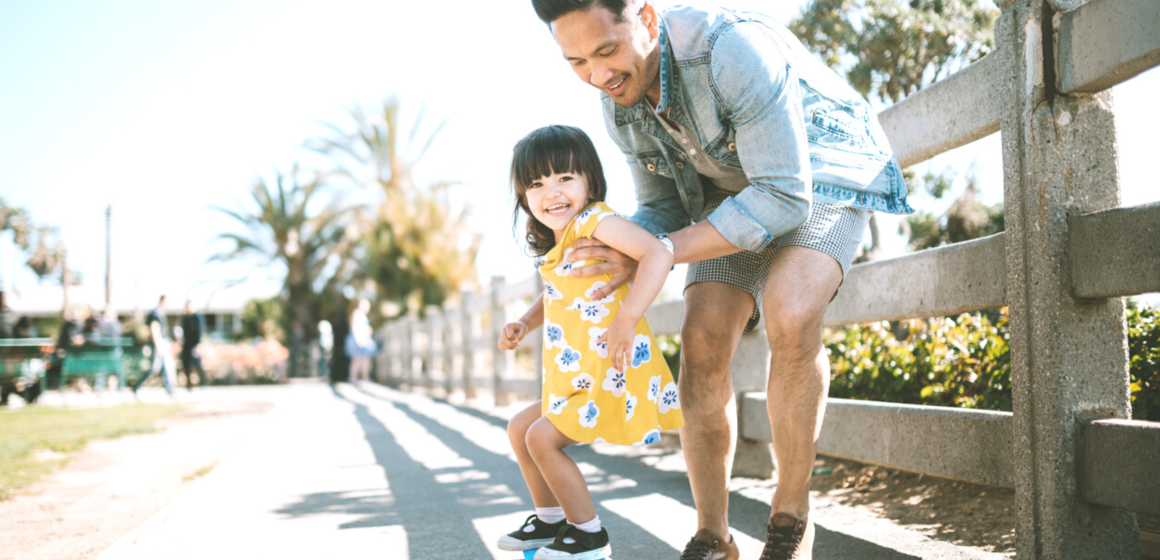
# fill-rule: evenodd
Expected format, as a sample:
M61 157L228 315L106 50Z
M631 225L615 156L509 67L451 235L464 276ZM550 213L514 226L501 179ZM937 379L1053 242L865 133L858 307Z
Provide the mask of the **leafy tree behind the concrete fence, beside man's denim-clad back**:
M789 28L844 74L854 89L872 103L890 104L991 52L996 16L983 0L812 0ZM945 172L922 177L907 173L912 192L937 192L935 198L947 192L954 179ZM1002 206L980 206L971 180L944 216L919 212L907 218L911 246L926 248L934 240L941 243L963 233L1002 231ZM980 225L980 216L992 221ZM879 250L876 218L870 221L870 237L864 261L875 260Z

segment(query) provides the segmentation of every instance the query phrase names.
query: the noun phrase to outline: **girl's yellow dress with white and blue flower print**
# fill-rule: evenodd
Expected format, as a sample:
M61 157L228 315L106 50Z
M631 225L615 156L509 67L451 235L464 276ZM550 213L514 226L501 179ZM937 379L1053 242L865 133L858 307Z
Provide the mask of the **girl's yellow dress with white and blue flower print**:
M612 369L608 344L596 344L596 339L616 319L629 286L593 300L592 292L612 276L573 278L568 271L585 262L565 260L573 241L590 238L596 224L609 216L619 214L602 202L593 203L572 219L560 242L539 261L544 277L543 413L578 442L644 445L660 439L661 431L684 424L673 373L645 318L637 323L625 372Z

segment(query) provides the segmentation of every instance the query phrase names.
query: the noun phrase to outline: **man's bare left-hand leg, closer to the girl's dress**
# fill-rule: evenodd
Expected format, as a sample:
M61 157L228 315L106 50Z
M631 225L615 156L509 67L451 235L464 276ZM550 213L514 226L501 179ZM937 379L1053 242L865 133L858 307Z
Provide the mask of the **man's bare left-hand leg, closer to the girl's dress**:
M719 282L698 282L684 290L679 377L681 448L697 507L698 529L728 536L728 478L737 444L737 403L730 363L753 296Z

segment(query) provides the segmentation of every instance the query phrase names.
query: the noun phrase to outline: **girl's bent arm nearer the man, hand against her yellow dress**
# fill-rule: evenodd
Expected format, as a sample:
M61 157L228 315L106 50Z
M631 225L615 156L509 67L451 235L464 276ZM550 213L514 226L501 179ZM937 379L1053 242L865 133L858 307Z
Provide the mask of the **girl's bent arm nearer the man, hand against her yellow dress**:
M637 323L665 285L665 278L673 268L673 252L640 226L618 216L601 220L593 231L593 237L640 263L632 291L621 304L621 311L602 337L608 341L612 366L624 371L624 357L632 347Z

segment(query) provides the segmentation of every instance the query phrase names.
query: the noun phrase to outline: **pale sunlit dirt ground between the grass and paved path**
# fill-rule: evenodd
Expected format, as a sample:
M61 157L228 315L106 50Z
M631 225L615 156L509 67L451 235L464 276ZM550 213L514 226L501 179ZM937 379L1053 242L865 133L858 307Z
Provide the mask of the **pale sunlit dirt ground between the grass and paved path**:
M0 501L0 560L95 557L212 471L269 407L191 402L157 432L89 443Z

